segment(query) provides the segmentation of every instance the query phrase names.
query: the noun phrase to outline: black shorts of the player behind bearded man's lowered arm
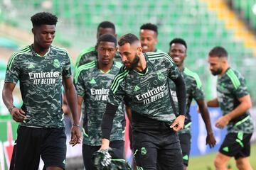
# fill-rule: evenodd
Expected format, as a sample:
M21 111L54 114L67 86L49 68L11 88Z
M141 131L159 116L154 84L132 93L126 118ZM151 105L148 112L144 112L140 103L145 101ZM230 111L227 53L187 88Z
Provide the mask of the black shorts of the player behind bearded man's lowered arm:
M112 159L124 159L124 141L115 140L110 142L110 147L113 152L111 154ZM100 146L90 146L82 144L82 159L86 170L94 170L95 167L92 163L92 154L100 149Z

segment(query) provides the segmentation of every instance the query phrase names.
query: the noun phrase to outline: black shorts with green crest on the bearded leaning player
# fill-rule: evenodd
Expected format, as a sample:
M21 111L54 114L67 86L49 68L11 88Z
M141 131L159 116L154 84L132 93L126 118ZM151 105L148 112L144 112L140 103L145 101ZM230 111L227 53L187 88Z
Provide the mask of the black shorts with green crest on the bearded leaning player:
M170 128L162 132L133 130L132 138L137 169L183 170L178 134Z

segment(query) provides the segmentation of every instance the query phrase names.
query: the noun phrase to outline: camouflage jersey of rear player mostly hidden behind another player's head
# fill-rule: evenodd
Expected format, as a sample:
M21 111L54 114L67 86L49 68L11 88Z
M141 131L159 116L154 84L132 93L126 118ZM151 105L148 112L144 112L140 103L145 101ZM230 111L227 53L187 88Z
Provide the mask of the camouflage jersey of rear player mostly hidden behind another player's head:
M78 55L78 58L75 62L75 69L78 69L78 67L80 67L82 64L86 64L94 60L97 60L97 51L95 50L95 47L87 47ZM122 62L119 52L116 52L114 55L114 61Z

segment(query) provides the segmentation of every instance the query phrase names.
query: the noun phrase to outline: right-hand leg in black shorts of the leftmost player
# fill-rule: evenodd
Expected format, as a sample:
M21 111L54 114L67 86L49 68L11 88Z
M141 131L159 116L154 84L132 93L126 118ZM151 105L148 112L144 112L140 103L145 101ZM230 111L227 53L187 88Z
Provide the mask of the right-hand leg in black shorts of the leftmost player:
M65 128L44 129L41 157L46 169L65 169L66 152Z

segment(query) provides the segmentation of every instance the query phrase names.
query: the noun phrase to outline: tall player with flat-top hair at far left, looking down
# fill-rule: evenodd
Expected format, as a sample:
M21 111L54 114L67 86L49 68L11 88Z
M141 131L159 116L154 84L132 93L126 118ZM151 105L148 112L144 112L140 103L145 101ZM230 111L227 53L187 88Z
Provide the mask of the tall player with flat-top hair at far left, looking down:
M64 85L73 115L72 139L80 140L77 98L66 50L51 45L58 18L51 13L31 17L33 44L9 59L3 89L3 101L18 126L11 169L38 169L40 157L47 170L65 169L66 135L63 122ZM14 106L13 91L20 84L23 106Z

